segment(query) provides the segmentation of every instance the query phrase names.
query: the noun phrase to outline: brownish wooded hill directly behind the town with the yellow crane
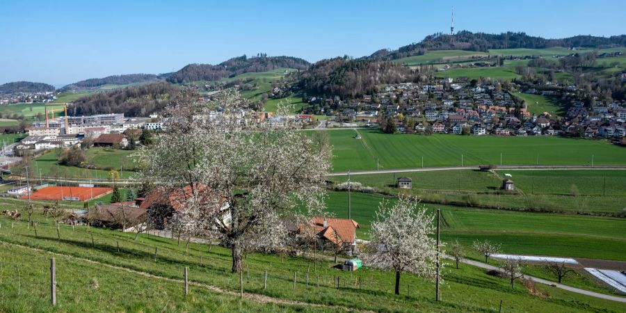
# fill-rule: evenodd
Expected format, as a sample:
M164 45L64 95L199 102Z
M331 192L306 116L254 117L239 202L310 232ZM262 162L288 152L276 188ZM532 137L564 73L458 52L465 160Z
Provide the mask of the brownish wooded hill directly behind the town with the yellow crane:
M166 81L94 93L74 101L70 115L124 113L128 117L147 116L161 111L184 96L186 88Z

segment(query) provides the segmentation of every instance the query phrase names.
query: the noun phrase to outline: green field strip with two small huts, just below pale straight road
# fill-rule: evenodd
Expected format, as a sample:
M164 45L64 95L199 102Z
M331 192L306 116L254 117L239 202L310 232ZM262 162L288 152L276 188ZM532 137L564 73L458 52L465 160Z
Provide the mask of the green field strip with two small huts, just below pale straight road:
M432 170L424 172L352 175L352 182L387 194L409 194L424 201L520 211L623 214L626 170ZM515 182L515 193L501 193L504 174ZM410 190L394 187L397 177L410 177ZM345 182L346 175L331 176Z

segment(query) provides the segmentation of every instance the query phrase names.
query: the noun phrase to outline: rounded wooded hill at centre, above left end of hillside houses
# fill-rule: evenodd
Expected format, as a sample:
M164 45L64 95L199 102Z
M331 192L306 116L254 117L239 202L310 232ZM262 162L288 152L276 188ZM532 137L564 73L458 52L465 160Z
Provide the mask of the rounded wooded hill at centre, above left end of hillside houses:
M417 79L417 71L388 61L331 58L300 72L300 88L316 95L354 98L376 92L380 84Z

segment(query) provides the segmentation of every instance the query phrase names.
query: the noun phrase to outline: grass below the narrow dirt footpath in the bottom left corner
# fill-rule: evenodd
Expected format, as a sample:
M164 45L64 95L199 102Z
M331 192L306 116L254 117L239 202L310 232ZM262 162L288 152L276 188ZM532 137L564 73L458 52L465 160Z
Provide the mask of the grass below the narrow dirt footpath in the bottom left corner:
M242 300L195 286L189 288L189 296L184 296L179 282L58 255L55 309L49 303L51 255L6 243L0 247L0 258L10 259L0 265L1 312L316 312L307 307ZM111 300L103 306L102 298Z

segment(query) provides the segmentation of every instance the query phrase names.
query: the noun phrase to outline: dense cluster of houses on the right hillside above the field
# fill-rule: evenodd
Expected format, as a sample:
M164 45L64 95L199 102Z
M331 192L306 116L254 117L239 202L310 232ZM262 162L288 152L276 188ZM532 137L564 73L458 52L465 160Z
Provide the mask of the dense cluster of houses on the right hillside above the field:
M568 86L575 90L575 86ZM566 89L568 90L568 89ZM524 93L552 97L552 90L529 88ZM530 113L522 99L511 96L497 81L437 79L428 83L385 86L375 95L324 106L340 122L376 126L382 117L392 117L403 133L443 133L497 136L572 135L575 126L584 136L625 136L626 104L613 102L588 109L572 104L563 117L548 112ZM321 103L320 103L321 104Z

